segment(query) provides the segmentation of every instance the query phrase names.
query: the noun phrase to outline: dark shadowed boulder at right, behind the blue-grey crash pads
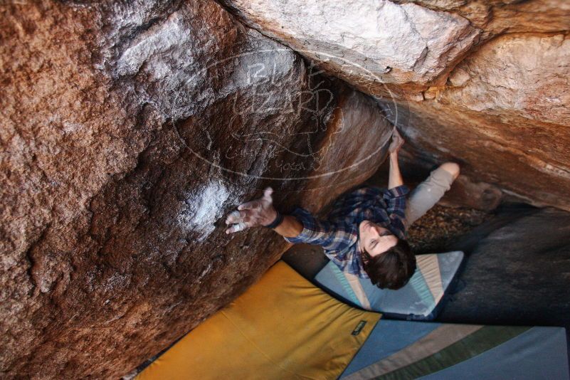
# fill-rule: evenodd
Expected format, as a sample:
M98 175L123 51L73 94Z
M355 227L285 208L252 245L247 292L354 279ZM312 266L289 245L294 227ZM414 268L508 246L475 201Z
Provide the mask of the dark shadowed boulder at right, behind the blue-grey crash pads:
M469 255L442 322L563 326L570 333L570 213L502 207L448 249Z

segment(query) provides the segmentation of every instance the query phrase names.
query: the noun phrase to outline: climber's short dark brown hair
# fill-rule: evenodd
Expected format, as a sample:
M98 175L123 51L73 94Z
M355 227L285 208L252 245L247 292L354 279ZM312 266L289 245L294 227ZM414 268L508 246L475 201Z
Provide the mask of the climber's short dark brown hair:
M399 289L416 271L416 256L403 239L398 239L396 246L374 257L364 250L362 263L371 282L380 289Z

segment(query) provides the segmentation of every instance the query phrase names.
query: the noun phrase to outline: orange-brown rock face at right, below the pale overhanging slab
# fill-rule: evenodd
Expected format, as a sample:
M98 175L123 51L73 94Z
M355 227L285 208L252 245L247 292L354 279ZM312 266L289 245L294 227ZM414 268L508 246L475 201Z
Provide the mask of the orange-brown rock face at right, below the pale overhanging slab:
M567 36L497 37L450 78L460 79L435 89L433 99L398 107L413 154L458 159L463 173L478 181L570 210Z

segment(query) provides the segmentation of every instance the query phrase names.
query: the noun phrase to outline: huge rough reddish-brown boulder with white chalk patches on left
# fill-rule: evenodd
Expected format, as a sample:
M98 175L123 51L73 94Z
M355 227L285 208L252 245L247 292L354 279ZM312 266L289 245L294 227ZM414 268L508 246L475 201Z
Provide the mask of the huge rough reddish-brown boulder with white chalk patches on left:
M213 1L0 12L2 377L126 374L287 247L226 236L236 204L316 211L384 159L374 101Z

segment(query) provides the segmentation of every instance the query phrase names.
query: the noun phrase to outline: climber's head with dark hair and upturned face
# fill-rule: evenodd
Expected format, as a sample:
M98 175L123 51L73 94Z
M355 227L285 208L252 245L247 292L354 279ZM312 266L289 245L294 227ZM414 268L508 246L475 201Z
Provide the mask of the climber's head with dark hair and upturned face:
M399 289L416 271L416 256L408 243L384 227L362 221L359 246L364 270L374 285Z

